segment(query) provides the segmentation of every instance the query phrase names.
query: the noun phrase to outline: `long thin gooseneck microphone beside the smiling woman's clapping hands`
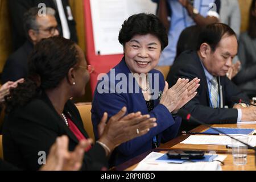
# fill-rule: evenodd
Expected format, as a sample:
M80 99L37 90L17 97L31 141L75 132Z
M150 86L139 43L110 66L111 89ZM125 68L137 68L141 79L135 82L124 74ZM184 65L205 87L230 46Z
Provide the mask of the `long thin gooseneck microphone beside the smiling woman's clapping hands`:
M236 140L237 142L240 142L240 143L244 144L245 146L248 147L248 149L253 149L254 150L254 155L255 155L255 166L256 166L256 147L250 146L249 144L247 144L247 143L245 143L245 142L243 142L243 141L241 141L239 139L236 139L236 138L234 138L234 137L232 137L232 136L230 136L228 134L225 134L224 132L222 132L222 131L220 131L220 130L218 130L218 129L216 129L216 128L214 128L214 127L212 127L212 126L210 126L210 125L208 125L208 124L206 124L204 122L199 121L198 119L192 117L192 115L187 110L179 109L177 111L177 115L179 115L179 117L181 117L184 120L193 121L193 122L199 123L200 125L207 126L210 129L213 129L213 130L217 131L218 133L221 133L221 134L223 134L223 135L225 135L225 136L227 136L229 138L232 138L232 139Z

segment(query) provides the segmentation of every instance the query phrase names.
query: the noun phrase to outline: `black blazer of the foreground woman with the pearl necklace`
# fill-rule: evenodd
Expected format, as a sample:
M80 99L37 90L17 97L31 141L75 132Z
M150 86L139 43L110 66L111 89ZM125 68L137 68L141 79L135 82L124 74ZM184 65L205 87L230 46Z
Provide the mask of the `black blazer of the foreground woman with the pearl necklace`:
M86 138L79 111L72 101L64 107L78 129ZM69 138L69 150L73 151L79 143L63 119L57 114L46 94L35 98L26 106L12 111L3 123L3 156L4 159L19 169L37 170L40 167L40 151L48 154L49 148L61 135ZM40 158L40 159L39 159ZM104 148L96 143L84 155L82 170L101 169L108 162Z

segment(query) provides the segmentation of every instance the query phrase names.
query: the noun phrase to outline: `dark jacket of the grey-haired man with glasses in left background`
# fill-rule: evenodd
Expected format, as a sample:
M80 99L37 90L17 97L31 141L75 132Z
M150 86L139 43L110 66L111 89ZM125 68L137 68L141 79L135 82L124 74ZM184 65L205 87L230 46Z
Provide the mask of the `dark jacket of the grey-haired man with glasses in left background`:
M2 84L28 76L27 61L32 50L33 44L27 40L22 47L10 55L3 67Z

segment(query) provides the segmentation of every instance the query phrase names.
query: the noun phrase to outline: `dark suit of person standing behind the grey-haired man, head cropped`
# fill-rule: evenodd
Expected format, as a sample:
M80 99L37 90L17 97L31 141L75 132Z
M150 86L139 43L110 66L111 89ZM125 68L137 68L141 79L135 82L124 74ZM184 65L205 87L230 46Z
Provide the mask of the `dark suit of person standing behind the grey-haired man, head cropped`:
M29 10L31 7L38 7L39 3L45 3L46 7L52 7L52 9L56 10L56 20L59 25L60 35L62 34L61 22L59 13L57 10L57 6L53 0L10 0L9 8L11 15L11 25L12 25L12 34L13 34L13 46L14 49L18 49L22 44L27 40L26 34L23 29L23 15ZM66 17L68 17L67 6L69 6L68 0L62 0L64 11ZM77 34L76 34L76 22L75 20L68 20L68 27L71 33L71 40L77 42Z

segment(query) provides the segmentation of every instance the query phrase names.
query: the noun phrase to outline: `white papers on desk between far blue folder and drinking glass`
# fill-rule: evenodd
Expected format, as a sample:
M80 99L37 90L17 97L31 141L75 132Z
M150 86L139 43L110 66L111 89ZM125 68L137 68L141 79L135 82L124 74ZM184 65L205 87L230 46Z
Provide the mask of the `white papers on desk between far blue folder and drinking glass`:
M256 146L256 136L248 135L250 146ZM181 143L184 144L216 144L232 145L231 139L223 135L191 135Z

